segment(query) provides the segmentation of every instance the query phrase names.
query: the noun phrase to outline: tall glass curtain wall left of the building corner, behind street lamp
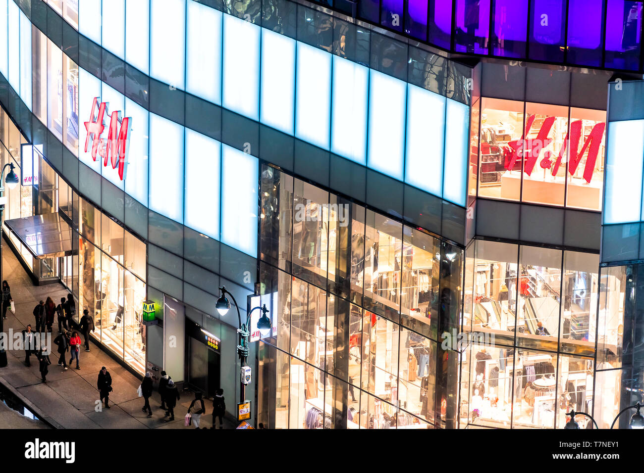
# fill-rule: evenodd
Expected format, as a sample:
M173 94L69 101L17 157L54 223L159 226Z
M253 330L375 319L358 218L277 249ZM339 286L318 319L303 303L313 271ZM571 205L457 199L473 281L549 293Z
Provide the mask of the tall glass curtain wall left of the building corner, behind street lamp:
M260 281L275 326L260 343L260 422L433 427L441 263L454 262L458 292L461 250L269 165L261 195ZM460 294L447 290L457 314Z

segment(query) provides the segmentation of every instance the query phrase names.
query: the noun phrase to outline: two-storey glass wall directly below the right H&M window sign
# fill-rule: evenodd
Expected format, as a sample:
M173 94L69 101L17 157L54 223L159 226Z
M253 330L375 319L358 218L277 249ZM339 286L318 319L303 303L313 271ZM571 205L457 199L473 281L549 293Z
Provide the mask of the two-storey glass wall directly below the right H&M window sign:
M460 425L560 429L571 409L592 414L599 255L475 240L467 256Z

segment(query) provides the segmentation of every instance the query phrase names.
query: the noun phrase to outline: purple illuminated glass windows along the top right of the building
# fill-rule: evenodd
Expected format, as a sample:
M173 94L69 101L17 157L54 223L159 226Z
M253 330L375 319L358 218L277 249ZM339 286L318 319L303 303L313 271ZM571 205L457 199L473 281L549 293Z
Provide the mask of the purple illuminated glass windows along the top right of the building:
M644 0L356 1L360 19L444 50L642 71Z

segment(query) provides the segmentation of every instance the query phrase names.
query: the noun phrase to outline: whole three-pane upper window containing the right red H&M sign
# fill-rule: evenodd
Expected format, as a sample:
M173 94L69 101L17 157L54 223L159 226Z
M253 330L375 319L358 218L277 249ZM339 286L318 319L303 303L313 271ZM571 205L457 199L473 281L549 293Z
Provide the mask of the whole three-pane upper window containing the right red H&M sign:
M601 210L605 111L481 102L479 196Z

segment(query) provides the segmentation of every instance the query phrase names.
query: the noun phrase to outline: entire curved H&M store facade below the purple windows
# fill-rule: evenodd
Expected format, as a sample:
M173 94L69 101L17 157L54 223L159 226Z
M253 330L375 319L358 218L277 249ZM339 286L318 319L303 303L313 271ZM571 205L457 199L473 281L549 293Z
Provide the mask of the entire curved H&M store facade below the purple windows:
M239 397L218 287L267 304L247 396L269 428L609 426L642 400L643 83L412 30L304 1L0 0L8 243L115 358L207 396Z

